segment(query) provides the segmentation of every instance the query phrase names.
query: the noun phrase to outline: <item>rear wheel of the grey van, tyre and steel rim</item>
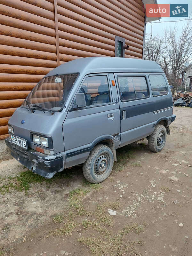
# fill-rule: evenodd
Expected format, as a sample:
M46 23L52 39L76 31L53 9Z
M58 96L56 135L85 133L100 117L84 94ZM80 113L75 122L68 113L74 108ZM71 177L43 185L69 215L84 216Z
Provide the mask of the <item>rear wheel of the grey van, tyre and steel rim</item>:
M159 152L164 148L165 142L167 138L167 131L166 128L158 124L155 127L154 132L149 136L148 139L148 146L151 151Z

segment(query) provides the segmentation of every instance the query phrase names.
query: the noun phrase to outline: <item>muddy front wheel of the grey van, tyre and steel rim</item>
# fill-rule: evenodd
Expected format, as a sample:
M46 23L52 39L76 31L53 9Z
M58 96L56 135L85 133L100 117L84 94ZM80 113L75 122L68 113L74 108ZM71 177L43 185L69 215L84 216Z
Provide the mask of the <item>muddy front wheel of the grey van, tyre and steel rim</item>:
M96 145L83 164L83 174L91 183L100 183L106 180L113 168L113 152L103 144Z

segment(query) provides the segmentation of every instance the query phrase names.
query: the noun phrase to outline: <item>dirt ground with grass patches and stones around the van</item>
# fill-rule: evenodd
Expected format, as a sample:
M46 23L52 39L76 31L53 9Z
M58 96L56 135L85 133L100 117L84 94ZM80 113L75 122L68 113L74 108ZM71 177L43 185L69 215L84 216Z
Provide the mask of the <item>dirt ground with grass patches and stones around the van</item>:
M174 114L161 152L147 143L118 149L99 185L81 166L47 182L1 162L0 255L191 256L192 109Z

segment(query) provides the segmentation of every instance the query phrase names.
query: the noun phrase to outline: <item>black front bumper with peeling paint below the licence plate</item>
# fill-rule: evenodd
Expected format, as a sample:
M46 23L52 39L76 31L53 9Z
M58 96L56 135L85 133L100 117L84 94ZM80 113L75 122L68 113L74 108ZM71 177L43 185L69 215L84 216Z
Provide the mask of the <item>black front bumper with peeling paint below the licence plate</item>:
M5 139L5 143L7 147L11 149L11 155L15 159L32 172L44 178L51 179L55 173L62 172L64 169L63 156L61 153L49 156L37 152L34 149L25 150L13 144L9 137Z

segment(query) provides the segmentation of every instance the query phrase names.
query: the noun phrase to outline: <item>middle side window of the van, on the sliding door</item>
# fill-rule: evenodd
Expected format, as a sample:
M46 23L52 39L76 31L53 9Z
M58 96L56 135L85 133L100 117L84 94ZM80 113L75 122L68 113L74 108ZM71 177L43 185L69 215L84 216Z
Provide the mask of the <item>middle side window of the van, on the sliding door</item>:
M144 76L119 76L117 80L121 101L143 99L149 96Z

